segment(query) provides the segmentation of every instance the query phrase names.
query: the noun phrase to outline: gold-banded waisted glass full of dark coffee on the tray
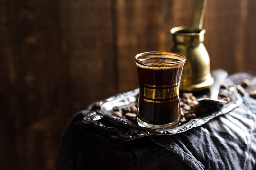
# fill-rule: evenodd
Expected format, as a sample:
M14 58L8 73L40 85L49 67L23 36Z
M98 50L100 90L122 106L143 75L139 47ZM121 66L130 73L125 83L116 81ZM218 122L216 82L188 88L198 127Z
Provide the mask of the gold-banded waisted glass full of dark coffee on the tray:
M146 52L135 56L140 126L163 129L179 123L179 86L185 60L183 55L170 52Z

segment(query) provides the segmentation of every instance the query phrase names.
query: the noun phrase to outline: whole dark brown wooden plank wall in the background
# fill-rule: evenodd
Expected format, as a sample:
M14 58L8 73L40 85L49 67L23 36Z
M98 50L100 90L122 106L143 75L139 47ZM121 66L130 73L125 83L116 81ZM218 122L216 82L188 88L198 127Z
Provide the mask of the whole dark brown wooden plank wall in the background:
M133 57L169 51L193 0L0 0L0 169L53 170L68 120L138 86ZM256 1L208 0L211 68L256 72Z

